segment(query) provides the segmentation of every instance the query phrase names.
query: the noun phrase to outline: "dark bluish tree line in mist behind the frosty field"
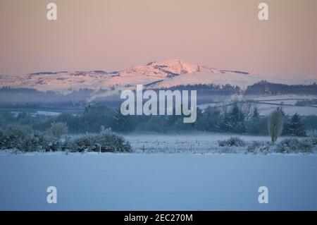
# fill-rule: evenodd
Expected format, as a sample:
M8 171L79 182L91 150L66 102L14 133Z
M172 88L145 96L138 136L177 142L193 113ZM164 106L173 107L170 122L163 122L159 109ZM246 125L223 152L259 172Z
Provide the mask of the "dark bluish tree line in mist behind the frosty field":
M317 116L286 115L278 108L278 119L282 120L280 135L306 136L309 130L317 129ZM105 105L90 105L83 114L60 114L58 116L31 116L22 112L13 116L9 112L0 114L0 127L16 123L30 125L35 130L46 130L51 123L66 123L69 133L98 133L101 126L111 128L117 133L131 132L185 132L201 130L215 133L237 133L249 135L268 135L270 116L261 116L255 104L234 101L224 107L197 109L197 121L183 123L182 116L123 116L120 109L109 109Z

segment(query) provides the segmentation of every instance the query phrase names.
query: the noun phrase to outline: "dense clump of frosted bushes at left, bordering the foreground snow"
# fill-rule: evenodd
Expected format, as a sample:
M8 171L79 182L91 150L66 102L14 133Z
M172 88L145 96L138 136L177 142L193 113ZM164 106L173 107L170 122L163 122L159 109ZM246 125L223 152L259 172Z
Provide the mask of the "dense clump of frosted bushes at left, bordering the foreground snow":
M99 134L70 138L66 123L51 123L45 131L31 126L10 124L0 129L0 149L21 152L130 152L130 143L110 129L102 128Z

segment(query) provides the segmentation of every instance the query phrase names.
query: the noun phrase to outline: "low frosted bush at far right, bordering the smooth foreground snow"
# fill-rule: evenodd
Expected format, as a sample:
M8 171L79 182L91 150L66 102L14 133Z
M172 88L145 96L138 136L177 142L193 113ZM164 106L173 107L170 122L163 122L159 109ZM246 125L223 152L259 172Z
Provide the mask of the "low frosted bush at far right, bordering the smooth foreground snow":
M287 138L282 140L277 146L275 151L281 153L309 153L314 150L314 143L311 138Z

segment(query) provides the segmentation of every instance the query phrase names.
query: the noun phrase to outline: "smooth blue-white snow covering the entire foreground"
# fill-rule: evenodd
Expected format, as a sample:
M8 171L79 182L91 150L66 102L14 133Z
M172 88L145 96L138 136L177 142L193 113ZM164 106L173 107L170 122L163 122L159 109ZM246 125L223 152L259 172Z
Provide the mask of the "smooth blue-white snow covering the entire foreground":
M316 171L316 154L0 154L0 209L317 209Z

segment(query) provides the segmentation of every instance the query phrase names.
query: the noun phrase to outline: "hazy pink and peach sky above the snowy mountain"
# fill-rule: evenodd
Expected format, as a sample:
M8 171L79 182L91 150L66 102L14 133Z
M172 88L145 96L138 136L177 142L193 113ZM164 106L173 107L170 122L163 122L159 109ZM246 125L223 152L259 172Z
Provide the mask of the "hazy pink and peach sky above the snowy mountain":
M0 0L0 75L182 59L317 78L317 1L266 0L269 20L259 20L262 1ZM49 2L57 20L46 18Z

